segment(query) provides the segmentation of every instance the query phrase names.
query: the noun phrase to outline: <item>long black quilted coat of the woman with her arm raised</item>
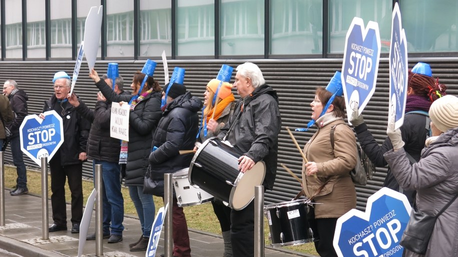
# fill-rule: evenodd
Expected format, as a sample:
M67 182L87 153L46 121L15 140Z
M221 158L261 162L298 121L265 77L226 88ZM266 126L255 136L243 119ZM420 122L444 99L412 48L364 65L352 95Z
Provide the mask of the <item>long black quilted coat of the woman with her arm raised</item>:
M103 79L100 79L96 85L109 101L129 102L133 96L115 93ZM153 133L161 118L161 98L161 92L151 92L129 113L129 148L125 185L143 186Z

